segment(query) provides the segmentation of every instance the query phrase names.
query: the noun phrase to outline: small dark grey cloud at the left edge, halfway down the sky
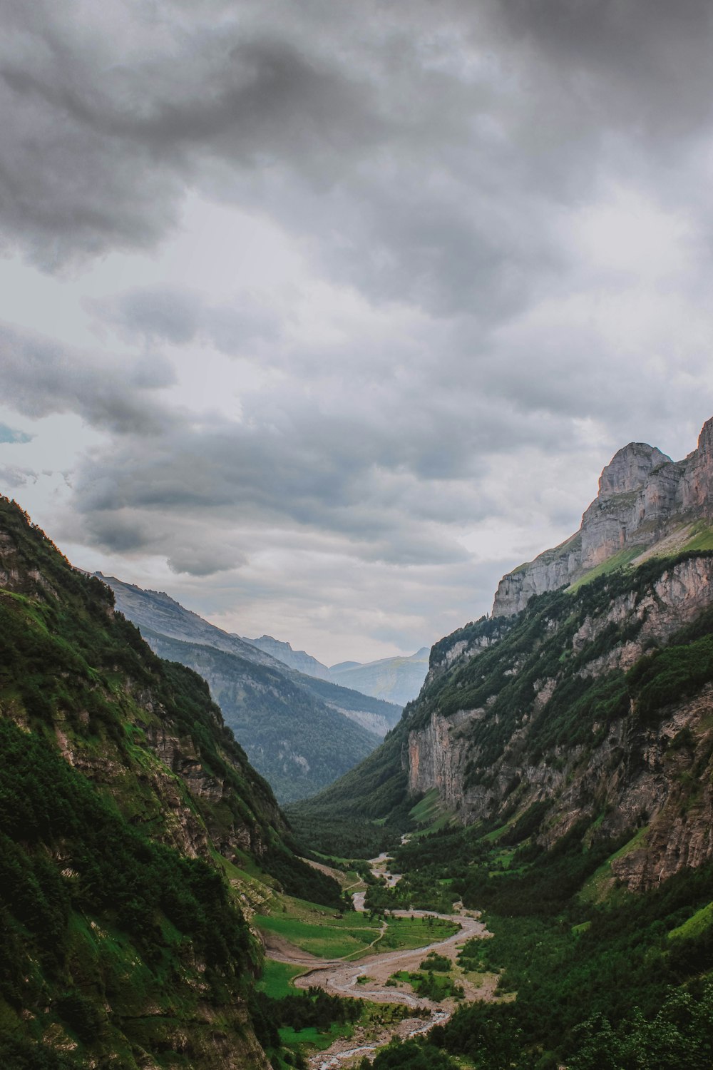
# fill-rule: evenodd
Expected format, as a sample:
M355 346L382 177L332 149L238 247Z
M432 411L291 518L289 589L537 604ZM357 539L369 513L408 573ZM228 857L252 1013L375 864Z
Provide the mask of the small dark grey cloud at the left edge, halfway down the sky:
M0 366L3 401L26 416L73 412L119 434L155 434L172 419L144 393L173 381L158 357L97 360L0 323Z

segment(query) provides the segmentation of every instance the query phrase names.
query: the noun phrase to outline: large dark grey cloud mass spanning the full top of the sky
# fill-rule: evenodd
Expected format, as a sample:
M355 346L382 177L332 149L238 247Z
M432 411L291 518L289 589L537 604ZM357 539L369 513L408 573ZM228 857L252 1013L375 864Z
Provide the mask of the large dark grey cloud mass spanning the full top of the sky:
M603 165L646 182L710 124L702 0L7 10L0 216L48 266L154 244L197 186L372 296L498 319Z

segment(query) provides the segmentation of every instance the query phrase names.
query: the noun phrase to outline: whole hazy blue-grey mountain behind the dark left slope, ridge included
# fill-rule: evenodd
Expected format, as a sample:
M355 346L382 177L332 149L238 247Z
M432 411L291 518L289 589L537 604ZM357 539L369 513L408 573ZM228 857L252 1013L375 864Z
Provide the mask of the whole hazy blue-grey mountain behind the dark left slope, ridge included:
M228 725L281 802L312 795L356 765L401 715L399 706L290 669L162 592L100 578L157 654L207 681Z

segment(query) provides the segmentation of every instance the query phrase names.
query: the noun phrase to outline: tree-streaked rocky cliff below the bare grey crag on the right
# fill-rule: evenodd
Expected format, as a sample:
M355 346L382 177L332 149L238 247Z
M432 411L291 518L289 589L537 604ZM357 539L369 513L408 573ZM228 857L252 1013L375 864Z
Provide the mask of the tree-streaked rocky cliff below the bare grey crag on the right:
M613 865L633 888L710 859L713 556L542 602L489 660L476 654L424 689L403 748L409 792L436 788L466 824L545 801L543 844L583 820L600 837L646 825ZM646 674L667 654L678 660L656 692Z

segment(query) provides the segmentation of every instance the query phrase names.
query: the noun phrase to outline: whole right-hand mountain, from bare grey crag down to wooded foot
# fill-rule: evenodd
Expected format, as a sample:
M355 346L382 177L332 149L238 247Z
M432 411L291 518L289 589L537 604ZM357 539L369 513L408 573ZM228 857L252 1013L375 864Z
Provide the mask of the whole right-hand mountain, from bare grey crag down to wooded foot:
M505 577L492 617L435 644L399 725L297 824L398 824L428 795L533 851L616 842L600 893L708 862L712 487L713 421L678 464L620 450L579 533Z

